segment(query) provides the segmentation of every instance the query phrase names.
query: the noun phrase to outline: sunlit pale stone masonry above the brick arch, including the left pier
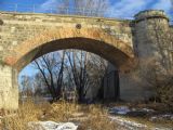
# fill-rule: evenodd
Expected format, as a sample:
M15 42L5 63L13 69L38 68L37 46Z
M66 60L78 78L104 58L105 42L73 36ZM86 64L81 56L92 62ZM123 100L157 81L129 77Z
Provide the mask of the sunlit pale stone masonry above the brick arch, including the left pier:
M0 108L18 107L17 73L14 73L11 66L6 66L3 58L12 53L15 47L46 29L76 28L77 24L81 24L82 28L102 29L133 47L130 21L0 12ZM17 53L21 51L24 50L18 50ZM12 55L15 56L15 53Z

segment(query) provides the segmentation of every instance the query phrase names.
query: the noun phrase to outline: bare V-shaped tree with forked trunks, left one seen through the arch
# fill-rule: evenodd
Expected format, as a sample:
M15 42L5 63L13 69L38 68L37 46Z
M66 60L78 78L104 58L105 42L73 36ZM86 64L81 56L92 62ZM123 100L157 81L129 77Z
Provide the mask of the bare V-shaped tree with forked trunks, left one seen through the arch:
M65 63L65 51L62 53L50 53L34 62L35 67L41 73L42 79L48 87L53 100L61 98L63 86L63 72Z

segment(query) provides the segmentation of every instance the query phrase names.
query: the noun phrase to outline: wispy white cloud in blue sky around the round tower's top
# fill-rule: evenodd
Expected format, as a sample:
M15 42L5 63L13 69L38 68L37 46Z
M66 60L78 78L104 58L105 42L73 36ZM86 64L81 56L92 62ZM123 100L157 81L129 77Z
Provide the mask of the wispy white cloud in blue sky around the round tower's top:
M111 6L110 16L132 18L139 11L157 9L170 13L171 0L121 0Z

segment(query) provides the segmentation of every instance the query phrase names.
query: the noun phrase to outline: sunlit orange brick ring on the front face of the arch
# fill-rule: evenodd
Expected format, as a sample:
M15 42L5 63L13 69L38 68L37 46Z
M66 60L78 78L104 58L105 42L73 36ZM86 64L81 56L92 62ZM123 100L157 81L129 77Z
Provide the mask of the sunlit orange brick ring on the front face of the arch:
M106 46L110 46L122 53L124 53L128 57L133 58L134 53L133 49L129 46L129 43L123 42L122 40L119 40L115 36L111 36L104 31L103 29L97 28L61 28L61 29L49 29L44 30L42 34L35 35L35 37L29 38L28 40L19 43L13 52L11 52L8 56L4 57L4 63L15 66L17 62L23 58L25 55L27 55L32 50L39 49L42 46L50 43L51 41L55 40L66 40L70 38L85 38L85 39L92 39L95 41L101 41L105 43L105 48L103 47L102 51L106 51ZM82 41L81 41L82 44ZM75 44L77 46L77 44ZM85 46L85 44L83 44ZM78 47L75 47L77 49ZM83 47L88 48L90 51L90 47ZM94 48L94 47L91 47ZM64 48L66 49L66 48ZM80 47L80 49L82 49ZM104 50L105 49L105 50ZM58 50L58 49L57 49ZM116 56L116 55L115 55Z

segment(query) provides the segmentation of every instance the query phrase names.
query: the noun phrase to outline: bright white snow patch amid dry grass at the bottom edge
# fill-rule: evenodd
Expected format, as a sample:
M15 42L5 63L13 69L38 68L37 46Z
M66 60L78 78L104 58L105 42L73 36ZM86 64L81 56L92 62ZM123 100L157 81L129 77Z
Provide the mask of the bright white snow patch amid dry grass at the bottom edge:
M77 130L78 126L72 122L54 122L54 121L38 121L29 122L28 127L32 130Z

